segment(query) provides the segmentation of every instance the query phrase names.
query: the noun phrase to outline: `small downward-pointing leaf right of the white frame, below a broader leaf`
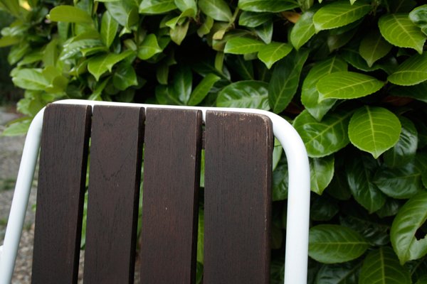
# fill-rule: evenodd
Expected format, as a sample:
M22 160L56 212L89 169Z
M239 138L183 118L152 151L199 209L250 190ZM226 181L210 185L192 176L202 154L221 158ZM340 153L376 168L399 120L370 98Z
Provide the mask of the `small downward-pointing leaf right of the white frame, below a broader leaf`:
M322 195L334 176L334 155L324 158L310 158L311 191Z

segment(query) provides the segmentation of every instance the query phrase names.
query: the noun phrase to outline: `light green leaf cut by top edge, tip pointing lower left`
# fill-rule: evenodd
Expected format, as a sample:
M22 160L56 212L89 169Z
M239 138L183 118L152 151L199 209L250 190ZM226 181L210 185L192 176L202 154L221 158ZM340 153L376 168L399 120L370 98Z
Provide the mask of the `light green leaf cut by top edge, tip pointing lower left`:
M313 16L316 31L339 28L359 20L371 11L371 4L356 2L353 5L348 0L327 4Z

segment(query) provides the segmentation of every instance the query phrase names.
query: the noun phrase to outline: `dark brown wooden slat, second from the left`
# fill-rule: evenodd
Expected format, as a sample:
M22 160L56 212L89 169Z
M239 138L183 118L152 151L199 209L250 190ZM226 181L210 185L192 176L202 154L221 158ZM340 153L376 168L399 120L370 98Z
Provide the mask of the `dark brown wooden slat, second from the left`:
M95 106L85 284L133 283L144 109Z

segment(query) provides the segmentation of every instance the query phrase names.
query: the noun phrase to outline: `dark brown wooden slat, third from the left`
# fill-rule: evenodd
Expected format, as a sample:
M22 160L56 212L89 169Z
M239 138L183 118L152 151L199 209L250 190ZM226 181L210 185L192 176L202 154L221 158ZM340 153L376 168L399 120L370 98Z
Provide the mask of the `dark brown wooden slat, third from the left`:
M147 109L144 143L141 283L192 284L201 112Z

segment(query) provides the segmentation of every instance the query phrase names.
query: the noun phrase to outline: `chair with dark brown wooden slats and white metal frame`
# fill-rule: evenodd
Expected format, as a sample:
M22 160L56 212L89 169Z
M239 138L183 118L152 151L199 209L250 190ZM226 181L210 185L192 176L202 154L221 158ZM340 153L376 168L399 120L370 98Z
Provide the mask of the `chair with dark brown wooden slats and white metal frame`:
M287 121L255 109L64 100L28 131L0 284L11 281L39 148L32 283L77 283L88 153L83 282L133 283L142 180L141 283L194 283L204 148L204 284L267 284L273 133L289 165L285 283L306 283L310 171Z

